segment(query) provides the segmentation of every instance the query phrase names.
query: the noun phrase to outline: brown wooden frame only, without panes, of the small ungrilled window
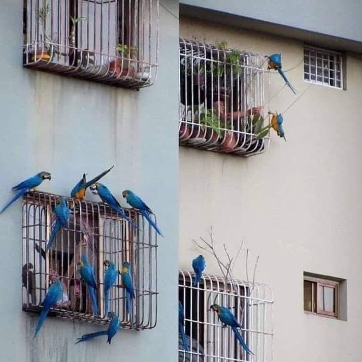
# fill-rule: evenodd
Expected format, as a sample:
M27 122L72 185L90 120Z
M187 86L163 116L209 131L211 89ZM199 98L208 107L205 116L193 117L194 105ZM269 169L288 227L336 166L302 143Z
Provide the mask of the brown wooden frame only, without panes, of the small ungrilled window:
M311 311L306 310L305 306L303 306L304 313L319 315L323 317L338 318L340 282L330 279L307 276L307 275L304 276L303 281L308 281L312 283L312 306L311 306L312 310ZM323 286L334 289L334 312L325 311L321 307L322 301L320 300L320 288ZM305 289L303 284L303 297L304 297L304 291Z

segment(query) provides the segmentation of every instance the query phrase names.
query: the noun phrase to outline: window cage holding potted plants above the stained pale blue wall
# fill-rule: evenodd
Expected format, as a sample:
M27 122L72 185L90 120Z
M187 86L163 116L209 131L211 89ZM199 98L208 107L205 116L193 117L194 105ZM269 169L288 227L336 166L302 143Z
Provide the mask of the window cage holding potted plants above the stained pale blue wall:
M157 75L158 0L24 0L25 67L139 89Z

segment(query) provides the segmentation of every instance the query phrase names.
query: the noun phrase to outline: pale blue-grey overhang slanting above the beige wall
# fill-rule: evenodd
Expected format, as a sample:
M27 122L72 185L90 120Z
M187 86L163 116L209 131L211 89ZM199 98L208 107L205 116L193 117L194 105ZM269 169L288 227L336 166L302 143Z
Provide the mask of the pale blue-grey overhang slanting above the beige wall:
M180 0L180 4L362 42L358 0Z

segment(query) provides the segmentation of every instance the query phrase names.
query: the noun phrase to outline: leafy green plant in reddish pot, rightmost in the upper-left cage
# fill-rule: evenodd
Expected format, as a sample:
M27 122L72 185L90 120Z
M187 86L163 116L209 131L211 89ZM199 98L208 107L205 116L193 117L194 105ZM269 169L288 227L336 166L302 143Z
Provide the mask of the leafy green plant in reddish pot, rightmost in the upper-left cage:
M109 72L116 77L134 77L137 66L133 63L137 65L137 61L132 60L137 58L137 47L118 44L116 50L119 57L109 63Z

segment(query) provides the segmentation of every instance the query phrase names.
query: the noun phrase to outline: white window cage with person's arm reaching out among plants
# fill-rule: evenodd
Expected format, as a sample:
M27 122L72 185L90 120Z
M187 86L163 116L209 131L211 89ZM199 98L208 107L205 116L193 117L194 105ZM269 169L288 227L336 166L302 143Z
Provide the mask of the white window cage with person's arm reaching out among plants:
M180 39L179 142L204 150L250 156L269 147L264 110L266 58ZM269 92L269 91L268 91Z

